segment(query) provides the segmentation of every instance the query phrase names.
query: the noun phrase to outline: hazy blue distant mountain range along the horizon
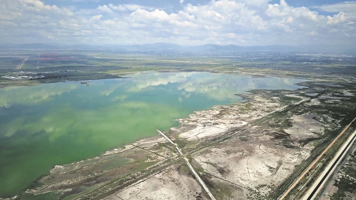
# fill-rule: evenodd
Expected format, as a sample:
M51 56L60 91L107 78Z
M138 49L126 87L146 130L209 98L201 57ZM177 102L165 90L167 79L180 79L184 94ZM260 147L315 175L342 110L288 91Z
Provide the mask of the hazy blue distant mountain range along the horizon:
M342 45L270 45L241 47L234 44L218 45L205 44L198 46L185 46L167 42L140 45L67 45L59 43L33 43L20 45L1 45L0 49L118 49L118 50L168 50L168 51L206 51L206 52L340 52L356 53L356 48L345 49Z

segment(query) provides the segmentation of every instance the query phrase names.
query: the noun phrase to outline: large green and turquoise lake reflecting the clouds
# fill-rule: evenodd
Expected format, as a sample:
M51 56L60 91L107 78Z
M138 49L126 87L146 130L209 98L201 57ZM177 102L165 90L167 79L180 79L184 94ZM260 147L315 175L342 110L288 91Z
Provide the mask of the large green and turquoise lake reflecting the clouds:
M28 188L59 164L178 126L194 110L241 102L252 89L302 88L300 79L145 72L125 79L0 89L0 197Z

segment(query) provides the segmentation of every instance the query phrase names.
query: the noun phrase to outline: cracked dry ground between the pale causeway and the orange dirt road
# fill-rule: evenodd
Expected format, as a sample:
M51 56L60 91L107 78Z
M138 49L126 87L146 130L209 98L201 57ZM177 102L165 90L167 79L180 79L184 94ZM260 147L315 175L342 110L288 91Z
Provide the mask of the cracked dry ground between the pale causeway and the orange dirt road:
M298 91L293 97L308 100L247 121L248 128L231 131L230 137L191 154L217 199L277 199L274 189L355 115L355 90L345 96L345 86L313 84Z

